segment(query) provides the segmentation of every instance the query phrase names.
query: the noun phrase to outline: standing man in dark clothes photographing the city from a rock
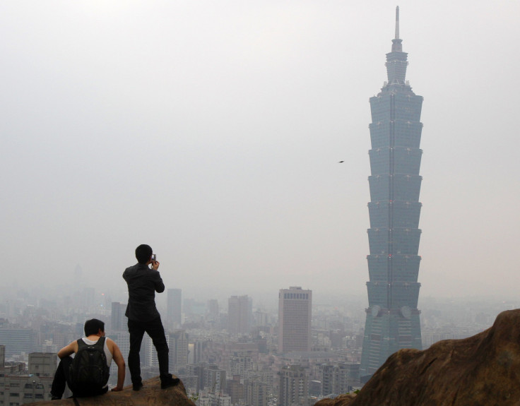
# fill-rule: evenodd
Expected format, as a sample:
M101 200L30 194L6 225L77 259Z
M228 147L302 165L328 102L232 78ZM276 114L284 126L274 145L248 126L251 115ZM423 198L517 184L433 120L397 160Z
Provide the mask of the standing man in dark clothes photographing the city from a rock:
M152 256L152 253L149 245L138 246L136 248L136 265L126 268L123 273L129 295L125 316L128 317L130 333L128 367L134 390L140 390L143 387L139 351L145 332L148 333L157 350L161 389L170 388L179 383L179 378L173 378L172 374L168 373L169 350L165 329L162 327L160 314L155 307L155 292L164 292L165 284L162 283L158 271L159 261L155 260L155 255ZM150 264L151 269L148 268Z

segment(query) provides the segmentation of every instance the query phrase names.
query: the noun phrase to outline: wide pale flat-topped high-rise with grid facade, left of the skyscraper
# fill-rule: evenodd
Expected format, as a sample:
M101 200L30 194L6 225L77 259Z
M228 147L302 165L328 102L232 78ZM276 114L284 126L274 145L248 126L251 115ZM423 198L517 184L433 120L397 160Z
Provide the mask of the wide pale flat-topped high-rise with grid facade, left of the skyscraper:
M278 352L311 350L312 290L299 286L278 294Z

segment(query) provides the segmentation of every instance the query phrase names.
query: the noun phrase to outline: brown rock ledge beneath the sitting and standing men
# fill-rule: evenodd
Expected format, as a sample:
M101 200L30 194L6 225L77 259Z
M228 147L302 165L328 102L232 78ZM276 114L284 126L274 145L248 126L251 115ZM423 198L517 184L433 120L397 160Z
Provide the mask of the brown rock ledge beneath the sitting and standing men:
M120 392L108 392L105 395L93 396L92 398L49 400L46 402L31 403L34 406L195 406L186 395L182 381L172 388L161 389L159 377L143 381L143 388L138 391L132 390L132 386L126 386Z

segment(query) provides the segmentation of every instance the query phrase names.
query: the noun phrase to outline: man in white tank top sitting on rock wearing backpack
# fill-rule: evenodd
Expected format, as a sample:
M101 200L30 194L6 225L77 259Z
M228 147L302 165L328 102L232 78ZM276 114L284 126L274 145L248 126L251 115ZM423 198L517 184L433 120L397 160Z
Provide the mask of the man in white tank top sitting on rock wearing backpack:
M74 357L76 359L71 357L72 354L76 354ZM61 361L52 381L52 400L61 399L65 391L65 383L71 388L74 398L107 393L112 359L117 364L117 386L112 390L123 390L125 373L123 355L114 341L105 338L105 323L97 318L86 321L85 337L63 347L59 350L58 357ZM94 374L94 371L98 373Z

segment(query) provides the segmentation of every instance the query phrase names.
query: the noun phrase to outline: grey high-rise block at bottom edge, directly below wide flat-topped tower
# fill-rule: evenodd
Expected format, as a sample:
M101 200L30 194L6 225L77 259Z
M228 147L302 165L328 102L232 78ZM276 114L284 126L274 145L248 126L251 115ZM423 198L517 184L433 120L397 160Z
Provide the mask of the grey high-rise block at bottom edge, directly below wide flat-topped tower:
M280 371L278 406L307 406L309 404L309 377L300 365L285 365Z

